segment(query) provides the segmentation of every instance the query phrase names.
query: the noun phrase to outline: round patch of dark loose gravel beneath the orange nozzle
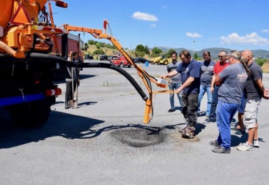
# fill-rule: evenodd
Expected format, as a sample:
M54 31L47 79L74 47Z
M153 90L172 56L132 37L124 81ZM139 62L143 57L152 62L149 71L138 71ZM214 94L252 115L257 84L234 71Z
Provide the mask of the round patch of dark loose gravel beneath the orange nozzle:
M110 135L116 140L135 148L160 144L167 137L167 134L162 130L149 128L117 129L112 131Z

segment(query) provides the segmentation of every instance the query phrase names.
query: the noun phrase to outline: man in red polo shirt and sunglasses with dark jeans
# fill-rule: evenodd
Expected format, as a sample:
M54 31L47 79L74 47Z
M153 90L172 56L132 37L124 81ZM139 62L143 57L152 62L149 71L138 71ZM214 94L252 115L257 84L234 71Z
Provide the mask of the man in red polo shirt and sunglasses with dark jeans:
M227 60L227 51L225 50L221 50L219 52L219 56L218 58L220 59L219 62L217 62L214 66L214 69L213 69L213 77L212 77L212 81L211 81L211 88L210 88L210 91L212 93L212 101L211 101L211 108L210 108L210 115L209 115L209 118L206 119L205 121L203 121L203 123L213 123L215 122L215 112L216 112L216 109L217 109L217 103L218 103L218 89L219 89L219 85L220 83L216 82L216 76L222 72L222 70L224 68L226 68L229 63L226 62Z

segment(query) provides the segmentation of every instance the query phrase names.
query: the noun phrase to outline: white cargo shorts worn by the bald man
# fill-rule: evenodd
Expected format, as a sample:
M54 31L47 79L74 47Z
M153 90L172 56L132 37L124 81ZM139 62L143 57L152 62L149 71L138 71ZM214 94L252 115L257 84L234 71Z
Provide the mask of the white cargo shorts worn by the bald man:
M257 123L258 108L260 106L261 100L246 100L245 112L244 112L244 126L246 129L254 128L255 123Z

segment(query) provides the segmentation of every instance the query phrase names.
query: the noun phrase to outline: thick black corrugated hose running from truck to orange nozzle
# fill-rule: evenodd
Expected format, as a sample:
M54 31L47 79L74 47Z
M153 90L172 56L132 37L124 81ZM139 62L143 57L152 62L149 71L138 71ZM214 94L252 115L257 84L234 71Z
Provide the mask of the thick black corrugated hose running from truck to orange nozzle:
M42 53L30 53L26 54L26 58L32 59L32 60L39 60L42 62L55 62L59 63L62 66L68 66L68 67L78 67L78 68L107 68L107 69L113 69L115 71L118 71L120 74L124 75L127 80L135 87L135 90L139 93L139 95L142 97L143 100L147 100L148 97L145 94L145 92L141 89L141 87L137 84L135 79L129 75L125 70L119 68L116 65L112 64L106 64L106 63L79 63L79 62L69 62L61 57L55 56L55 55L49 55L49 54L42 54ZM69 74L67 73L69 76Z

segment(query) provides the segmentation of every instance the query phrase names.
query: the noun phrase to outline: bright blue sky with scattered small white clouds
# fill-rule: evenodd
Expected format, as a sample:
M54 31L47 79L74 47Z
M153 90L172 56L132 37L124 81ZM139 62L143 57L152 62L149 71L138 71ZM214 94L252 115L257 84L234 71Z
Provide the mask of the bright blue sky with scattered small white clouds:
M124 48L143 44L150 48L269 50L269 0L64 1L68 8L52 2L55 24L102 29L106 19ZM85 42L93 39L83 33L81 38Z

